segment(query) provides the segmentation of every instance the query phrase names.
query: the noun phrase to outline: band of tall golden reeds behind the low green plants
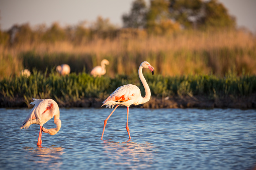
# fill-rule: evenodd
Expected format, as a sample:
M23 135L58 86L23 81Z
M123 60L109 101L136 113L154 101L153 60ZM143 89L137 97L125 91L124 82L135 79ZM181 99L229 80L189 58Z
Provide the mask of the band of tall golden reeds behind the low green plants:
M144 35L144 34L143 34ZM0 45L1 46L1 45ZM1 77L27 68L44 72L59 64L69 64L71 72L90 73L101 60L108 59L107 76L137 72L148 61L162 76L225 76L229 71L256 74L255 37L244 31L180 31L165 36L122 36L94 38L74 43L69 40L20 43L1 48ZM12 63L12 64L11 64ZM10 66L10 68L8 68Z

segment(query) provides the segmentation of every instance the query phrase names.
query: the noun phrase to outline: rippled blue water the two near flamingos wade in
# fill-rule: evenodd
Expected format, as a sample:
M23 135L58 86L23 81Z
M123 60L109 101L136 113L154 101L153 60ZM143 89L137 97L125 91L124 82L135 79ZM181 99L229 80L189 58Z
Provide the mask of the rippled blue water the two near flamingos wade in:
M0 169L251 169L256 110L61 108L56 135L20 130L30 109L0 109ZM55 128L52 120L44 127Z

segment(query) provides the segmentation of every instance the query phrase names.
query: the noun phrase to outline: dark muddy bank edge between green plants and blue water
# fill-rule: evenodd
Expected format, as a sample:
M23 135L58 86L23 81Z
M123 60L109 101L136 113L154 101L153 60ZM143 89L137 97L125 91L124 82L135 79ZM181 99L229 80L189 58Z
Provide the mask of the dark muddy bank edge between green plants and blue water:
M84 98L77 101L62 102L57 101L59 107L84 107L84 108L100 108L104 99L99 98ZM27 105L24 98L15 99L5 99L0 98L0 107L29 107L32 105ZM151 99L144 104L131 107L140 108L239 108L239 109L255 109L256 108L256 93L253 93L247 97L235 98L232 96L222 97L222 98L209 98L207 96L185 96L185 97L165 97L157 98L151 97Z

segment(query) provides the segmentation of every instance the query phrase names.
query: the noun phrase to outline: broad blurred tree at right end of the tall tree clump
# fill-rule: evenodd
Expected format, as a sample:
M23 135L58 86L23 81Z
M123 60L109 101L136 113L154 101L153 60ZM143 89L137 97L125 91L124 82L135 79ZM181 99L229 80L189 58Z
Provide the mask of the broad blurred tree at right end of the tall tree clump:
M188 28L234 28L235 19L217 0L169 0L172 19Z

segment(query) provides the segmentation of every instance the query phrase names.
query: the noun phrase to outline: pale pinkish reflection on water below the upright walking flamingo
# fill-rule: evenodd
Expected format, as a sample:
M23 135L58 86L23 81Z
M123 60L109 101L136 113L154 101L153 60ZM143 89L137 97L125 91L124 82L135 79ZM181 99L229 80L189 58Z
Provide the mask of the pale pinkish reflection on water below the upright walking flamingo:
M149 142L115 142L104 140L104 152L111 157L111 163L132 165L133 168L149 167L154 162L154 146Z

